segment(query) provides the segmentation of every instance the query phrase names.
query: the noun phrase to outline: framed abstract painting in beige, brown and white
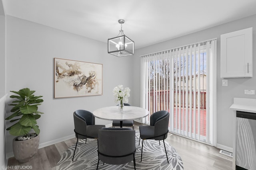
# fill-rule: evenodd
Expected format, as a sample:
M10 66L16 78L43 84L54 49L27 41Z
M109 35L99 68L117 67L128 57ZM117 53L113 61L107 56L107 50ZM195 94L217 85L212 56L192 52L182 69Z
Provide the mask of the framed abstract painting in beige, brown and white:
M102 95L102 64L54 58L54 98Z

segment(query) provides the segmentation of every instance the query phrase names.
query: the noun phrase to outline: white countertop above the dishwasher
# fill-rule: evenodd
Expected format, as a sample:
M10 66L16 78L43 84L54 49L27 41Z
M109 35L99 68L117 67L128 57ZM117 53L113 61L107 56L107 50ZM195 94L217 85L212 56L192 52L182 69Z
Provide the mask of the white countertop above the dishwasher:
M234 98L234 104L230 106L230 109L256 113L256 99Z

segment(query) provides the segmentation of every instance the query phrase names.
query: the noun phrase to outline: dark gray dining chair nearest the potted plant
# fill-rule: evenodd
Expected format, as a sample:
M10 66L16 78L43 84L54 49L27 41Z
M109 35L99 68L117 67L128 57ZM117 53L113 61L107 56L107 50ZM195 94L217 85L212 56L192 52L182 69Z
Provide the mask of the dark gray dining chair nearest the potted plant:
M81 109L76 110L74 111L73 116L75 125L74 132L76 133L77 138L76 146L78 139L86 139L85 143L87 142L87 138L98 139L98 130L105 127L105 125L95 125L95 117L90 111ZM74 160L75 152L76 147L72 161Z

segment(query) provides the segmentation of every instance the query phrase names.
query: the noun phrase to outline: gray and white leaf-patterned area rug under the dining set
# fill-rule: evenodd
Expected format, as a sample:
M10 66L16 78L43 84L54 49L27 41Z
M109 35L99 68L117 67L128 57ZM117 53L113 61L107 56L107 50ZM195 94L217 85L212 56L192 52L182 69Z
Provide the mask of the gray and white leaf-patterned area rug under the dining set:
M141 146L138 145L140 133L136 131L136 170L183 170L183 162L177 151L165 141L169 159L167 162L164 144L160 141L145 140L143 143L142 162L140 162ZM114 140L114 139L113 139ZM72 157L76 144L64 152L56 166L56 170L96 170L98 163L97 140L78 141L74 161ZM104 164L100 161L98 170L134 170L133 161L122 165Z

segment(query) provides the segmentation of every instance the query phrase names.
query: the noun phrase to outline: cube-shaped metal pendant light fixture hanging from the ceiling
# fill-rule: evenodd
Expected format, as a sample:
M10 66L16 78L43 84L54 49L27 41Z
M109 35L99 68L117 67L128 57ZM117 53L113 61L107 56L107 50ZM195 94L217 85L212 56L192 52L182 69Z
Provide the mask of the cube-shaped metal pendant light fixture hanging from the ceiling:
M108 53L117 57L134 55L134 41L124 35L122 24L124 20L118 20L121 24L121 29L117 37L108 39Z

